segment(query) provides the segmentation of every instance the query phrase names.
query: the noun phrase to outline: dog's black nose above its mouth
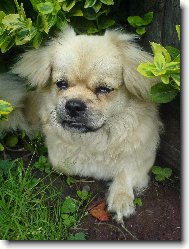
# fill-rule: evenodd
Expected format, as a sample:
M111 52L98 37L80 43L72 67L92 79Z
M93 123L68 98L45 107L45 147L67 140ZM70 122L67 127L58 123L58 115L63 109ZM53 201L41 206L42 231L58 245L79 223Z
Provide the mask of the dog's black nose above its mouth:
M86 108L86 104L79 99L68 100L65 105L65 109L71 117L80 116Z

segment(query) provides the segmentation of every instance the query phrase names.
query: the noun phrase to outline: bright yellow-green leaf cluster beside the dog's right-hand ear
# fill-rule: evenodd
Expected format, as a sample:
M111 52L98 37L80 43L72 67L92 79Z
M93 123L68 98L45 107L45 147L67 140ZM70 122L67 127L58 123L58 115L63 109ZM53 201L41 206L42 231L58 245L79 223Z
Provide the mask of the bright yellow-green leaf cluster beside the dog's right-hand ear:
M179 32L179 25L177 30ZM140 64L137 71L148 78L160 78L160 82L152 86L149 97L156 103L168 103L180 92L180 51L155 42L150 44L154 61Z

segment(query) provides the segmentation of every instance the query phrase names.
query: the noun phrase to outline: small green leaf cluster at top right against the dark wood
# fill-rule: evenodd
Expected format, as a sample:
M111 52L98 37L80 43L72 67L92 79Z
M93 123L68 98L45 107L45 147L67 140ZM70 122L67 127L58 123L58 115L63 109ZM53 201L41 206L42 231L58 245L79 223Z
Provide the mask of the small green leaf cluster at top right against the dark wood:
M144 17L140 16L129 16L127 18L128 23L136 29L136 33L143 35L146 33L146 26L149 25L153 20L153 12L148 12Z

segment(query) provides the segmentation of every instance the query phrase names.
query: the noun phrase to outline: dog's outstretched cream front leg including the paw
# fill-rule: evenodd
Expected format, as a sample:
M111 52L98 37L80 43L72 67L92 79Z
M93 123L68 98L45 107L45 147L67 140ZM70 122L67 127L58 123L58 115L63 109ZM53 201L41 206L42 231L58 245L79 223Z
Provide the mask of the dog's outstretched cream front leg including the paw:
M133 204L133 180L128 172L120 172L109 189L108 210L116 213L116 220L123 222L123 217L129 217L134 214L135 206Z

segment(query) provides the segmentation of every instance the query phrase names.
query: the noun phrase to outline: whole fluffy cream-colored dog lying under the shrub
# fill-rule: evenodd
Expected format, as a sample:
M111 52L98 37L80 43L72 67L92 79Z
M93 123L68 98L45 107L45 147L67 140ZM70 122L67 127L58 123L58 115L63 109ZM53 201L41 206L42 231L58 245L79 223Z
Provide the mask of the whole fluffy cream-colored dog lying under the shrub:
M15 106L1 126L42 130L59 172L112 180L107 203L119 222L134 213L133 190L148 184L161 126L147 97L156 82L136 71L151 57L133 39L68 28L24 53L11 70L18 77L0 83L0 97ZM23 79L37 89L26 92Z

